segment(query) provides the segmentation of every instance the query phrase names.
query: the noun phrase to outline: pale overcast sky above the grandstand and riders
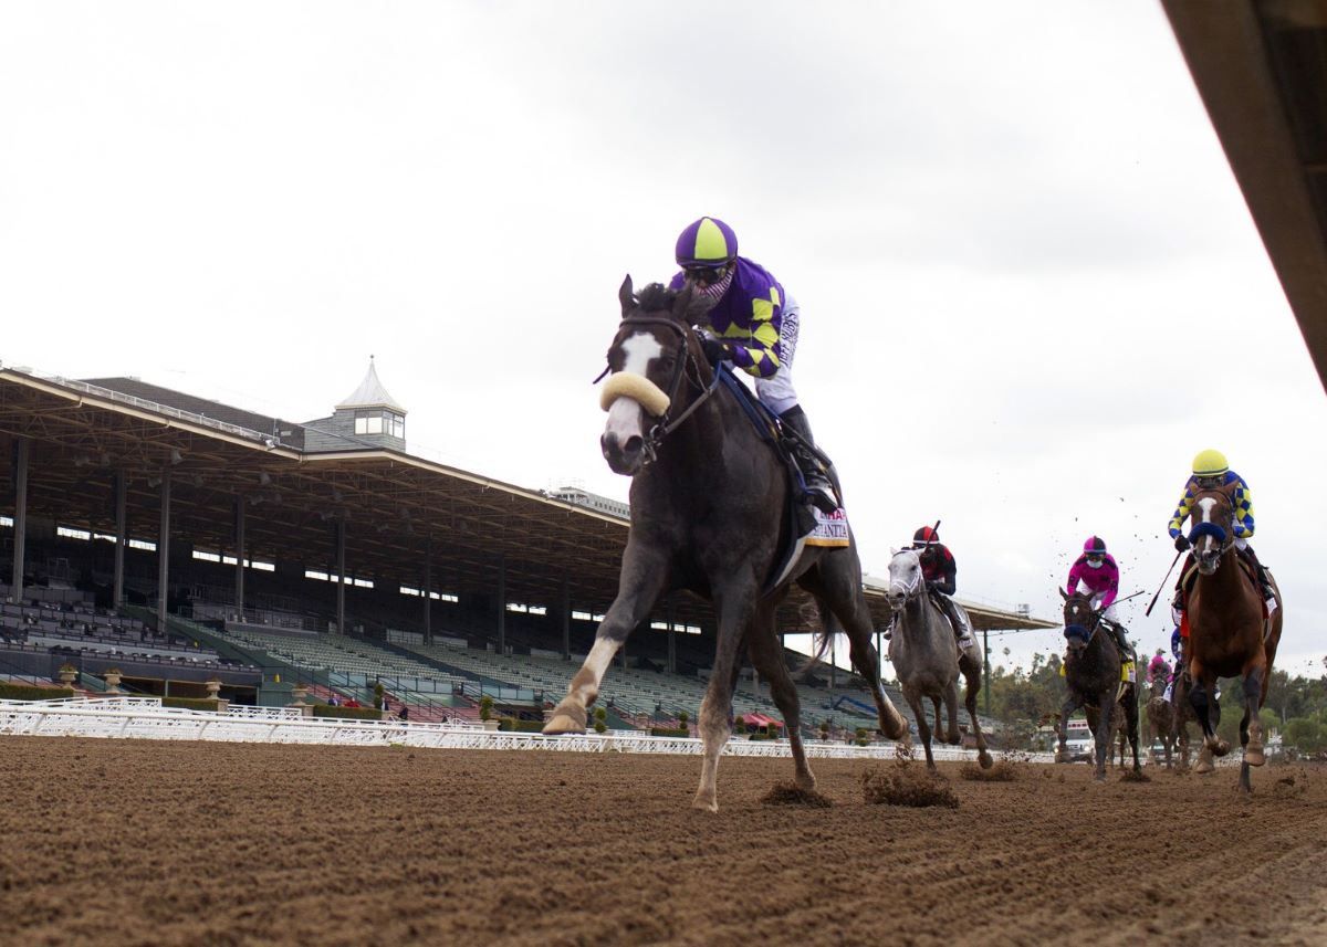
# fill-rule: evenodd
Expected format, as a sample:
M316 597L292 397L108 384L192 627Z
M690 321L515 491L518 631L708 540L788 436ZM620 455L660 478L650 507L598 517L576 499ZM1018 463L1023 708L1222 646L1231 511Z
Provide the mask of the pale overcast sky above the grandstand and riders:
M701 215L802 304L868 572L941 519L1058 618L1099 533L1152 650L1217 447L1320 672L1327 399L1158 4L0 7L5 365L308 420L372 354L413 452L625 499L591 379Z

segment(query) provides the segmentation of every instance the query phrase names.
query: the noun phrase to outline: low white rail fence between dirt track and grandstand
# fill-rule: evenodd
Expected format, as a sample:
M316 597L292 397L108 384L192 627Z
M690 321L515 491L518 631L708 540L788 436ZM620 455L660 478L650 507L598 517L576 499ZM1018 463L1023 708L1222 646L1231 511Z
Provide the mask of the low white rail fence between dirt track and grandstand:
M634 731L544 736L508 733L466 724L338 720L303 716L292 707L232 707L226 714L162 707L158 698L89 700L0 700L0 735L94 736L147 740L220 740L231 743L307 743L358 747L433 747L439 749L541 749L577 753L670 753L695 756L701 741L648 736ZM807 756L820 759L892 760L897 744L857 747L808 740ZM787 740L730 740L726 756L790 756ZM975 751L936 747L937 760L975 760ZM920 751L917 751L920 757ZM1032 753L1050 763L1050 753Z

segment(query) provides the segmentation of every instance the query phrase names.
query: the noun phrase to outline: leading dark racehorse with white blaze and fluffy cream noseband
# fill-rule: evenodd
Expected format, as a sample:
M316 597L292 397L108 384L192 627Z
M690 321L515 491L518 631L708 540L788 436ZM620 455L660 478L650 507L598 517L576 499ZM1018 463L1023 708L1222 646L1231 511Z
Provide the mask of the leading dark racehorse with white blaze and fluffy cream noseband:
M714 670L698 720L705 759L694 805L719 808L715 773L731 733L742 646L783 712L796 784L812 789L798 692L775 631L775 609L792 581L815 596L828 633L841 622L852 663L876 699L880 729L890 739L906 732L880 683L856 541L808 546L783 582L766 590L790 531L783 463L736 397L715 383L691 329L699 313L690 308L689 288L674 293L652 284L637 300L626 277L618 300L622 322L608 350L612 375L600 398L608 411L601 447L608 466L632 477L632 529L617 598L544 732L584 732L587 710L617 649L661 594L687 589L714 603L718 625Z

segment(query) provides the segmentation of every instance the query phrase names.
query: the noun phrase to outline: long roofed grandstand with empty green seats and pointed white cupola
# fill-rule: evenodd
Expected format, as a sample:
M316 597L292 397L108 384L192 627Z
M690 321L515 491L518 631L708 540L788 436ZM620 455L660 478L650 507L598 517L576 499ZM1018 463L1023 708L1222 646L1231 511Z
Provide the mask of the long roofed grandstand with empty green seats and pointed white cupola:
M12 577L0 597L16 610L0 674L50 676L76 649L93 675L131 663L126 682L145 694L220 676L231 700L275 704L296 682L358 700L381 684L413 719L472 719L486 694L539 718L616 594L626 511L415 456L405 418L372 363L330 415L304 423L138 379L0 367L13 497L0 508ZM867 594L882 626L888 603ZM788 596L782 633L812 630L807 605ZM979 630L1050 626L970 611ZM693 596L660 602L605 680L614 726L694 720L713 627ZM800 688L805 726L872 724L861 682L820 676ZM779 716L750 668L735 711Z

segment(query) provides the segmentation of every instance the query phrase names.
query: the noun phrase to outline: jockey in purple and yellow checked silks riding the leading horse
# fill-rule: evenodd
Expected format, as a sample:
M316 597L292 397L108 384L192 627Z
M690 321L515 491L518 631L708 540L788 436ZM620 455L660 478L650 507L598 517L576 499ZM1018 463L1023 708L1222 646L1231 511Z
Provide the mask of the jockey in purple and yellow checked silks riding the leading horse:
M811 422L792 387L792 358L798 350L800 309L774 276L738 256L738 237L722 220L701 218L677 239L677 273L669 289L690 284L695 298L709 301L701 336L713 365L733 362L755 377L760 402L779 416L800 443L794 456L807 487L807 499L827 513L839 508L829 477L815 455Z

